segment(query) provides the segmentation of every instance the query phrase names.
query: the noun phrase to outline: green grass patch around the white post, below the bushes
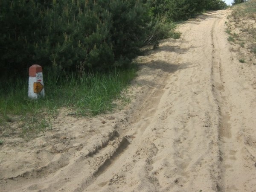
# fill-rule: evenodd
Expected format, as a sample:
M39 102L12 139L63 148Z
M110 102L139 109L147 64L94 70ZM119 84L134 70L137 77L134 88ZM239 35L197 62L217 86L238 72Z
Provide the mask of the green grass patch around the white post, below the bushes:
M52 129L52 119L61 107L72 109L72 114L94 116L115 107L115 99L123 96L136 67L113 70L108 73L74 74L63 76L54 71L44 72L45 98L28 98L28 80L1 81L0 88L0 136L18 134L33 137ZM52 75L54 74L54 75ZM55 78L54 78L55 77ZM16 127L9 126L14 121Z

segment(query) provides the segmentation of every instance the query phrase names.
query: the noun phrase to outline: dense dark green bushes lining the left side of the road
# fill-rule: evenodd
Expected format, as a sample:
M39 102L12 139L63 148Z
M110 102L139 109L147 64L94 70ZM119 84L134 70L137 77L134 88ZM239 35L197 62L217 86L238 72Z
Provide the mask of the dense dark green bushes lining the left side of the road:
M126 66L143 44L168 37L172 20L222 8L218 2L1 0L0 76L26 74L35 63L61 71Z

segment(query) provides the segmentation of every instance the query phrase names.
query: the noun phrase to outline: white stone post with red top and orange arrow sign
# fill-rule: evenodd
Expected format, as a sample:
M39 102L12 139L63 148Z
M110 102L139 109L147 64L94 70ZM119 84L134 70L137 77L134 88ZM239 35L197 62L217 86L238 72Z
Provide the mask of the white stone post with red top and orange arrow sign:
M40 65L29 67L29 98L38 99L44 97L43 70Z

